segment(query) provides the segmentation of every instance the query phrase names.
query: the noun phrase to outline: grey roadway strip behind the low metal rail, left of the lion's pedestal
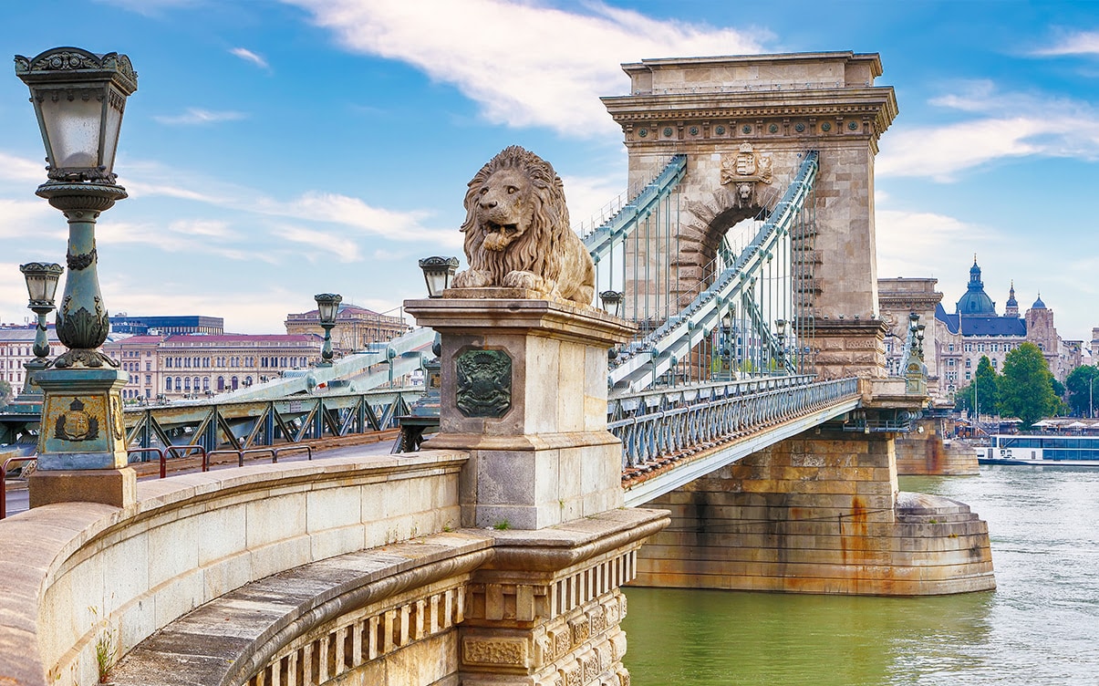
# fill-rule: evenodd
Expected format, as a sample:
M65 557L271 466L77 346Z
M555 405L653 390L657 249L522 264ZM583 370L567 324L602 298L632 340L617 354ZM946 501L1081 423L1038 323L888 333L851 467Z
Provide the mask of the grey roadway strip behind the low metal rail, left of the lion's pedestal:
M397 431L384 431L380 434L360 434L362 440L358 442L351 442L349 444L337 445L328 447L328 442L322 442L321 445L314 446L313 449L313 460L325 460L330 457L344 457L347 455L388 455L389 451L393 446L393 441L397 440ZM279 446L275 446L279 447ZM151 455L151 454L149 454ZM279 456L279 462L300 462L302 460L308 460L309 454L306 451L296 451L288 453L286 455ZM267 462L270 460L270 455L264 455L263 453L256 453L255 455L246 455L245 465L252 465L255 463ZM132 462L131 467L137 471L137 480L148 480L160 477L160 463L158 460L151 460L148 462ZM214 469L233 469L237 467L236 455L215 455L214 460L211 461L210 471ZM199 472L202 468L202 463L199 457L173 457L167 462L168 476L174 476L176 474L191 474ZM23 512L30 508L30 494L26 489L26 479L24 478L8 478L4 480L5 487L5 505L8 517L15 514L18 512Z

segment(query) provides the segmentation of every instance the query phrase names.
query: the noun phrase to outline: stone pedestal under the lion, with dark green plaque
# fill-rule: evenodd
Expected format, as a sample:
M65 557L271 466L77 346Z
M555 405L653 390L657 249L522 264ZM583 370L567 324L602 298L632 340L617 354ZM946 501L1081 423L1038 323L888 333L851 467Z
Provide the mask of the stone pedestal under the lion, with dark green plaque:
M439 434L458 449L462 524L542 529L622 506L622 447L607 431L607 351L632 328L601 310L513 289L408 301L442 338Z

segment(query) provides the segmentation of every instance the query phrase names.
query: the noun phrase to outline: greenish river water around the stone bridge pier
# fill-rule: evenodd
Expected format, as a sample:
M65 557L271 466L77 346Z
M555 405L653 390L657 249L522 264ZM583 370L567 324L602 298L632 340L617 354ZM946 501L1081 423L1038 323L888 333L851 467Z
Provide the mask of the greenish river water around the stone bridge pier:
M1099 468L901 477L988 522L997 589L925 598L630 588L635 686L1099 684Z

